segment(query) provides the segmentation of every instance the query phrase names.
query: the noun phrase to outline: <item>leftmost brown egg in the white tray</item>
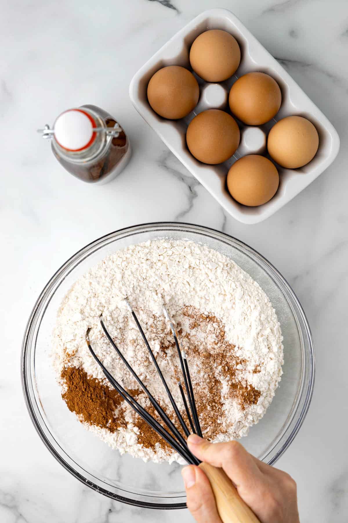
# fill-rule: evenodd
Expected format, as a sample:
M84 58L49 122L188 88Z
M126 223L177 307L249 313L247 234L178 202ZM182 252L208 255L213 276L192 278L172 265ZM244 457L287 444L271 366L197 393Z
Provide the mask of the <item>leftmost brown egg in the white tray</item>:
M148 85L148 100L158 115L178 120L197 105L199 86L194 75L179 65L169 65L154 73Z

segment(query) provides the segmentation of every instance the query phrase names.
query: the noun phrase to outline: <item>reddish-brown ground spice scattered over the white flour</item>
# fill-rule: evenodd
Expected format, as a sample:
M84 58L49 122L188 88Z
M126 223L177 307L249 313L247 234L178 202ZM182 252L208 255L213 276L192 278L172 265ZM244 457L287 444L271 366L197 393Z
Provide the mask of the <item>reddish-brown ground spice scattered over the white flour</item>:
M185 342L189 365L191 363L199 369L196 379L193 379L197 411L201 428L205 432L204 436L213 439L226 431L222 427L221 379L228 380L229 397L236 400L242 410L245 410L247 405L258 402L260 391L250 384L242 384L237 381L237 365L243 365L246 361L235 356L235 346L225 339L224 326L216 316L200 314L191 306L184 308L183 315L189 318L190 333L183 337L181 325L177 324L178 334ZM200 333L214 333L213 353L211 352L212 348L208 347L204 338L197 338L196 333L198 331L195 333L195 329L199 329ZM165 358L170 347L174 348L175 344L166 341L165 344L161 345L159 357ZM66 353L65 356L65 360L68 362L71 355ZM174 372L175 378L179 381L181 379L179 366ZM254 369L254 373L257 372L260 372L258 366ZM116 390L110 389L101 380L89 377L82 368L64 367L61 378L66 389L62 397L69 410L75 412L81 421L107 429L111 433L121 427L127 427L124 400ZM129 390L128 392L138 401L144 395L139 390ZM164 408L164 405L161 406ZM154 407L149 405L148 401L146 409L163 424ZM166 411L166 414L178 426L174 413ZM182 412L182 415L188 425L186 413ZM139 429L138 443L140 445L155 450L155 445L159 444L163 449L171 449L142 418L137 414L134 414L134 416L135 426Z

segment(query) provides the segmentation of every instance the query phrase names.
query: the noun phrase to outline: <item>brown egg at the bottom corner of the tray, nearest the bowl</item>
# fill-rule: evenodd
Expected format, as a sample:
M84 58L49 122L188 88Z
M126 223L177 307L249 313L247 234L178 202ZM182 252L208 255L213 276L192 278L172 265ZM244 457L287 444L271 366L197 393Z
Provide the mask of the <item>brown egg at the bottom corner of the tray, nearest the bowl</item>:
M237 160L227 174L231 196L243 205L256 207L269 201L277 192L277 168L265 156L249 154Z

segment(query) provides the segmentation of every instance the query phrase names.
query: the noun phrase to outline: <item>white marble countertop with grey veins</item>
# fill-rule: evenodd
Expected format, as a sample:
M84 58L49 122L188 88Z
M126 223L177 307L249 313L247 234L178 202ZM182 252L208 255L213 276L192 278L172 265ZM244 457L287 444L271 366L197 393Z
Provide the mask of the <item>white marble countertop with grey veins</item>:
M140 510L83 487L35 433L19 376L22 334L53 272L94 238L159 220L226 231L265 255L290 281L313 329L317 376L305 423L278 467L297 480L302 523L347 521L346 0L3 0L0 7L0 521L192 521L187 510ZM229 8L241 18L341 137L330 168L258 225L226 217L128 98L139 66L210 7ZM35 133L62 110L83 103L114 114L134 146L128 168L109 185L94 187L70 176Z

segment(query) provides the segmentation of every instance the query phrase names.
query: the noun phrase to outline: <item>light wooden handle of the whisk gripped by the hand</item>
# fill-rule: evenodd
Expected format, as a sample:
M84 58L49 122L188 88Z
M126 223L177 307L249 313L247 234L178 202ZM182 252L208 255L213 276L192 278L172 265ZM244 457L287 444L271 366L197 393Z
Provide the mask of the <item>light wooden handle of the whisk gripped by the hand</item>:
M223 523L260 523L222 469L217 469L209 463L200 463L199 467L210 481Z

